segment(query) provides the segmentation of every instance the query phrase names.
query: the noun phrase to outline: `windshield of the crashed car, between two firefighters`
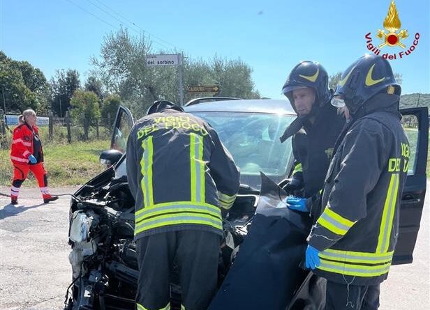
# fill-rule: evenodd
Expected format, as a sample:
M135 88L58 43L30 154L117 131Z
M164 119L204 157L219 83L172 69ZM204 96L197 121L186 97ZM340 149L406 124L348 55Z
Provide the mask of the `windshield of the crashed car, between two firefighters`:
M295 116L249 112L191 112L207 121L240 168L240 181L260 190L260 171L275 182L286 177L292 147L279 137Z

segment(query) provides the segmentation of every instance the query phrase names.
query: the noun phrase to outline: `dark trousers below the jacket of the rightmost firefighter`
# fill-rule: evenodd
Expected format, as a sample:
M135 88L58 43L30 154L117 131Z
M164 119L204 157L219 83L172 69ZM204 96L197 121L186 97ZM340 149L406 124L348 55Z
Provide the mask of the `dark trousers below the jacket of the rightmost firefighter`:
M376 310L379 308L379 286L327 281L325 310Z

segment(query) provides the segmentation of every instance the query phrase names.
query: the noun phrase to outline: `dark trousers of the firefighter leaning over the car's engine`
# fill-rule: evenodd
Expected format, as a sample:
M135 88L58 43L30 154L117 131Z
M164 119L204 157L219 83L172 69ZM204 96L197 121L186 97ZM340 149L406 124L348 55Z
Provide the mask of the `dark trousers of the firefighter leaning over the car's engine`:
M174 260L179 269L182 307L207 309L216 293L219 246L220 236L209 231L171 231L140 238L136 309L170 309Z

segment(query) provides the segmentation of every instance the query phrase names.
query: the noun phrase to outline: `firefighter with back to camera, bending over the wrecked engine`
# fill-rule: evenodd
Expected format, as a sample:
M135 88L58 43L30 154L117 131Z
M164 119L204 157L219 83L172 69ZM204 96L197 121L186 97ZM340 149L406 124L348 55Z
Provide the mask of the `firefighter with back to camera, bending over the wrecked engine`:
M232 156L205 121L157 101L133 126L126 160L140 270L136 309L170 309L174 258L183 307L207 309L218 278L221 210L239 190Z

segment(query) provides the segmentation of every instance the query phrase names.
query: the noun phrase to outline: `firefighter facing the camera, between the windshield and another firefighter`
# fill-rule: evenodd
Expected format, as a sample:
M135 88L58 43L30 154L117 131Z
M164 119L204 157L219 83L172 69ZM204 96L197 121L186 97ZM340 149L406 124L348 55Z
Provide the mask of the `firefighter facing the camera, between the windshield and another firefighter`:
M280 186L289 194L302 197L288 197L290 208L313 212L323 189L334 143L345 121L329 102L332 93L328 75L320 63L302 61L297 64L283 85L282 93L297 112L297 119L281 137L281 141L285 141L294 134L295 164L291 178L281 182ZM302 187L304 191L299 192Z

